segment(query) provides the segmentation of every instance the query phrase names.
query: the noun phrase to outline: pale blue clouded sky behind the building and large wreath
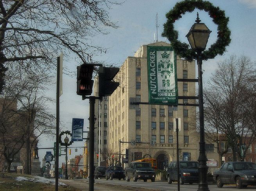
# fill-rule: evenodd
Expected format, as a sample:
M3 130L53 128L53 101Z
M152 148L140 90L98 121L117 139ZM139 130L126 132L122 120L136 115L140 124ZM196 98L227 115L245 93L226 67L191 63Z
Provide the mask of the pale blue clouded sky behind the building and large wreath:
M117 2L123 1L117 0ZM102 60L105 63L119 67L128 56L134 56L134 53L141 45L156 42L156 14L158 14L159 21L158 41L169 43L168 40L161 37L161 33L163 32L163 24L166 22L165 14L174 7L176 2L179 1L126 0L122 5L112 6L112 9L108 10L109 16L112 21L117 22L119 28L109 28L108 35L97 35L92 39L92 43L107 49L106 53L103 52L100 56L93 56L93 59ZM224 55L218 55L214 59L203 61L203 83L209 80L219 61L228 59L233 54L249 56L252 61L256 61L256 0L209 0L209 2L216 7L220 7L225 11L226 17L229 17L228 27L231 30L231 43L226 47L227 51ZM182 42L188 44L185 36L193 23L195 23L198 11L195 9L192 13L186 13L175 22L175 30L179 31L179 40ZM207 49L217 39L217 25L213 23L207 12L199 11L199 18L201 23L205 23L212 31ZM79 59L68 55L65 56L66 58L69 57L69 59L64 59L63 66L75 72L76 67L81 64ZM56 87L52 87L48 95L55 98L55 92ZM51 110L55 114L56 106L51 105ZM60 132L72 131L72 118L84 119L84 131L89 130L87 129L89 126L89 100L82 100L82 96L76 95L76 76L68 77L63 75L63 95L60 97ZM55 137L40 137L38 147L53 147L54 142ZM83 149L79 147L83 146L83 144L83 142L74 142L71 146L77 147L77 152L75 152L75 148L72 148L72 155L68 155L68 159L82 154ZM40 161L45 156L46 151L52 150L39 150ZM64 162L64 156L60 156L59 161L60 164Z

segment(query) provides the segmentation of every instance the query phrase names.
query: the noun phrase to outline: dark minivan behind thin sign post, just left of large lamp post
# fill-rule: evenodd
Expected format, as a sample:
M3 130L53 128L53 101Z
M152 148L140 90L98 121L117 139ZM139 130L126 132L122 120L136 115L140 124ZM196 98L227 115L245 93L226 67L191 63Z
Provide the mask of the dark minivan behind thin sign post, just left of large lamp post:
M199 182L199 163L196 161L179 161L179 183L184 184L188 182L189 184ZM178 168L177 162L171 162L166 169L166 179L168 184L172 184L174 181L178 181Z

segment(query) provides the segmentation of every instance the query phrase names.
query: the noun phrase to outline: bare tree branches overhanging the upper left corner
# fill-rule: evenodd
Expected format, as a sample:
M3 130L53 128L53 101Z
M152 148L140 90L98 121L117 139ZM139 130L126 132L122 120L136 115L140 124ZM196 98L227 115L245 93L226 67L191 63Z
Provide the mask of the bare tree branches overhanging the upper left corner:
M82 63L107 49L91 37L117 28L108 10L111 0L2 0L0 2L0 92L7 67L55 69L56 55L75 54Z

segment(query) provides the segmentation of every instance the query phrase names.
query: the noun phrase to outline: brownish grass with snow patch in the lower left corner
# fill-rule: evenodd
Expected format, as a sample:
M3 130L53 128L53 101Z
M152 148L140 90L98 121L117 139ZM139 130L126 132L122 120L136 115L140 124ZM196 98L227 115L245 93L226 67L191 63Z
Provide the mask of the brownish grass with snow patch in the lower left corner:
M52 183L41 183L33 181L18 181L15 178L18 176L32 178L33 175L24 175L16 173L5 173L4 176L0 176L0 190L3 191L55 191L55 185ZM70 186L59 185L59 191L80 191Z

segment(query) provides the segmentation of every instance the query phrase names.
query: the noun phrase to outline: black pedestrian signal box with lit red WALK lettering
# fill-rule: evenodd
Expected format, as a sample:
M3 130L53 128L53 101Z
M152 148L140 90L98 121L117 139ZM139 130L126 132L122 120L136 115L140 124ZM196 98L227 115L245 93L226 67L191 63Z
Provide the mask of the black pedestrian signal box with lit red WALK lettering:
M91 95L93 90L93 65L82 64L77 67L77 95Z

